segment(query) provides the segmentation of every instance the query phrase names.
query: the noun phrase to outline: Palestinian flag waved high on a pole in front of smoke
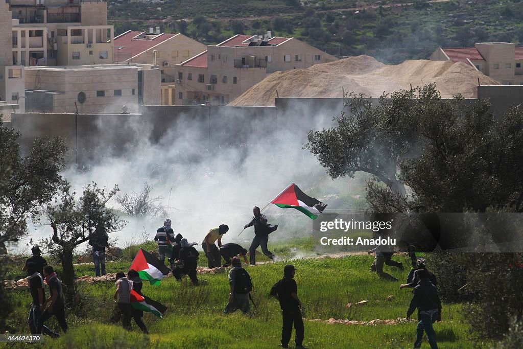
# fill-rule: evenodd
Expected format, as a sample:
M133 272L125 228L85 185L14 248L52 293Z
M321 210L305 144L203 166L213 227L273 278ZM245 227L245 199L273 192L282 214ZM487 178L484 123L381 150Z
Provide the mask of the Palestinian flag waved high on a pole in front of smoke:
M281 208L295 208L298 211L305 213L311 219L316 219L319 213L323 212L327 205L323 202L311 198L303 193L300 188L294 183L291 183L287 189L283 190L274 200L270 201Z

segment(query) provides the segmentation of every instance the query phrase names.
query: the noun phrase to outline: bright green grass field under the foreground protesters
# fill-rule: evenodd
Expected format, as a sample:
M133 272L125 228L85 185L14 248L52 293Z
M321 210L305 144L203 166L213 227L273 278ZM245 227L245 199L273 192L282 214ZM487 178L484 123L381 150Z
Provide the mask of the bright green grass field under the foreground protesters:
M299 241L308 244L307 240ZM285 256L283 245L274 246L274 252ZM406 256L395 256L407 265ZM203 256L200 262L203 262ZM164 319L145 313L144 322L150 335L143 335L137 327L132 332L109 323L112 312L113 283L78 284L82 296L75 310L67 310L70 331L58 340L46 337L45 348L276 348L281 334L279 304L268 297L270 287L282 277L283 265L289 261L247 266L254 283L253 298L257 309L252 317L241 312L224 315L229 288L227 273L199 275L201 285L191 286L169 276L160 286L145 284L143 293L168 307ZM353 255L344 258L311 258L294 260L298 295L305 308L305 341L309 348L407 348L412 347L416 322L397 325L343 325L323 321L349 319L404 318L411 299L410 290L400 290L399 282L380 280L368 271L372 256ZM127 269L129 262L108 262L107 271ZM201 263L203 264L203 263ZM400 280L407 270L399 272L385 267ZM92 266L81 266L78 275L93 275ZM17 333L27 333L27 312L30 303L28 291L10 293L17 303L9 325ZM392 297L390 297L392 296ZM390 298L390 300L388 300ZM368 300L366 305L346 307L347 303ZM445 304L443 321L435 324L438 344L442 348L468 348L468 326L460 313L461 305ZM51 320L52 329L58 324ZM293 339L291 340L291 347ZM24 347L19 344L14 347ZM423 348L428 348L426 341Z

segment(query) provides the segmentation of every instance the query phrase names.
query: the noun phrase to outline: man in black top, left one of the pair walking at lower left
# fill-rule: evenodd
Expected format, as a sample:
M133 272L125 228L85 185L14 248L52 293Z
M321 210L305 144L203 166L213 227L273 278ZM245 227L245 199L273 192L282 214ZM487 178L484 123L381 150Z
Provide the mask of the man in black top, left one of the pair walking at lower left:
M40 334L37 332L38 329L38 318L42 314L41 308L44 305L44 300L46 300L46 290L43 286L42 275L36 271L36 265L33 262L28 262L26 264L27 275L29 276L29 291L31 292L32 303L29 308L29 317L27 322L29 323L29 329L31 334ZM58 333L54 333L49 330L48 327L42 326L42 330L47 335L51 337L60 336Z

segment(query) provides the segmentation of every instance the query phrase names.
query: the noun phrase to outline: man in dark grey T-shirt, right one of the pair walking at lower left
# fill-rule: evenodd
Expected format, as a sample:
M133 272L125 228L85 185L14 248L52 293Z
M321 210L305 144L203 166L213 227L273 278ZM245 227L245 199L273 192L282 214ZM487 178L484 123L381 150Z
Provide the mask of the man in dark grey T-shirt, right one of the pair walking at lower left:
M65 300L62 288L62 282L56 276L54 269L50 265L46 265L43 268L43 274L46 277L46 283L49 285L49 298L43 302L40 306L42 314L38 318L37 333L42 333L44 322L50 319L53 315L58 320L60 327L64 333L67 332L67 322L65 321ZM48 305L47 309L44 308ZM47 331L47 330L46 330ZM49 331L51 332L51 331ZM58 333L52 334L54 337L58 337Z

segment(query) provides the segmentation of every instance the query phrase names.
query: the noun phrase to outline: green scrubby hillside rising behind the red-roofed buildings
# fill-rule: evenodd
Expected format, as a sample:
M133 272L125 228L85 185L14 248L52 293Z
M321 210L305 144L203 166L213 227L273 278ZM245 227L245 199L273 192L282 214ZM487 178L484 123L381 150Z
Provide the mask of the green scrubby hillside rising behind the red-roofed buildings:
M292 36L327 53L386 63L426 59L437 47L523 42L519 0L108 0L115 35L160 26L206 44L236 33Z

